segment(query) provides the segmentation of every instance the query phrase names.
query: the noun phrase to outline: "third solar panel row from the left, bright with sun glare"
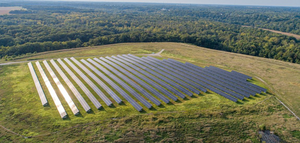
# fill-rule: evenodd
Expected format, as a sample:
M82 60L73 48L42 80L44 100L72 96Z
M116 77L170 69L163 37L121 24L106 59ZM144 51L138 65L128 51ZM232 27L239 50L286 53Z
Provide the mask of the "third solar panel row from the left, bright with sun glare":
M78 115L79 114L79 110L76 107L75 103L73 102L73 100L71 99L69 93L67 92L67 90L65 89L65 87L61 84L61 82L59 81L59 79L57 78L57 76L55 75L55 73L53 72L53 70L51 69L51 67L49 66L49 64L47 63L46 60L43 61L46 69L48 70L48 72L50 73L53 81L55 82L55 84L58 87L58 90L60 91L61 95L65 98L66 102L68 103L69 107L71 108L72 112L74 115Z

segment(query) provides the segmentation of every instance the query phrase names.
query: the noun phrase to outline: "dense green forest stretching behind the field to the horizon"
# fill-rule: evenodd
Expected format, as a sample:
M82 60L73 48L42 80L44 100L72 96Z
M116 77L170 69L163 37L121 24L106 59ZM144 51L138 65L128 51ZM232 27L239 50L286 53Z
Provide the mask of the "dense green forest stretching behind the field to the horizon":
M300 8L103 2L7 2L0 57L122 42L183 42L300 63Z

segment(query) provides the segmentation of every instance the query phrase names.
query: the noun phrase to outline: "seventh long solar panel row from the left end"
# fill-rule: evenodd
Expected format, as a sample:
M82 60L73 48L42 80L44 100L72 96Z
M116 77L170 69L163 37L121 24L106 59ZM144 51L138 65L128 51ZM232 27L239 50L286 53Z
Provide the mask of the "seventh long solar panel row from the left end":
M95 74L93 74L90 70L88 70L84 65L82 65L75 58L71 58L71 60L74 61L83 71L85 71L85 73L87 73L94 81L96 81L97 84L100 85L118 104L120 104L122 102L122 100L105 83L103 83ZM108 101L108 103L111 102L104 94L102 94L101 99Z

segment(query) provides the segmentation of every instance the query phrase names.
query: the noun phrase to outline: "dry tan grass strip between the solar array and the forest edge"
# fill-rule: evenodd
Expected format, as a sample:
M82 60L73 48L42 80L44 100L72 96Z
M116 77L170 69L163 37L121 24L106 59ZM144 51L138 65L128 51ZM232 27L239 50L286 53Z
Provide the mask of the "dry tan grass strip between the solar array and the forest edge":
M300 65L274 59L266 59L224 51L218 51L183 43L123 43L104 46L65 49L37 53L15 61L30 61L62 57L100 57L119 54L163 52L164 57L192 62L199 66L217 66L237 70L266 81L292 110L300 115ZM15 62L10 61L10 62Z

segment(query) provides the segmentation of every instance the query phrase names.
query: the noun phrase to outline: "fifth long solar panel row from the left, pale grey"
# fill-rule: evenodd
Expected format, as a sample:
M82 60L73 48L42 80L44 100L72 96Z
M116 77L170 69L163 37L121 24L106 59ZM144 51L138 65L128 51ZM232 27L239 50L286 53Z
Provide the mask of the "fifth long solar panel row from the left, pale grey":
M81 82L80 79L68 68L67 65L61 60L57 59L59 64L67 71L67 73L72 77L72 79L77 83L77 85L82 89L82 91L86 94L86 96L92 101L97 109L100 109L102 105L99 101L94 97L94 95L89 91L89 89Z

